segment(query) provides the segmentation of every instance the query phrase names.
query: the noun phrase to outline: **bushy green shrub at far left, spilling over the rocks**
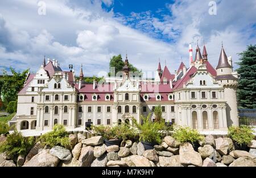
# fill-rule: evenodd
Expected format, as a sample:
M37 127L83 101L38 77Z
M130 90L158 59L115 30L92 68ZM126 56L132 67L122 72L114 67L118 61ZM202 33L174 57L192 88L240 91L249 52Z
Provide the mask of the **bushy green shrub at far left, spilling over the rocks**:
M19 155L26 155L34 144L34 137L23 137L22 133L15 129L12 134L7 135L6 141L0 146L0 152L6 152L16 160Z

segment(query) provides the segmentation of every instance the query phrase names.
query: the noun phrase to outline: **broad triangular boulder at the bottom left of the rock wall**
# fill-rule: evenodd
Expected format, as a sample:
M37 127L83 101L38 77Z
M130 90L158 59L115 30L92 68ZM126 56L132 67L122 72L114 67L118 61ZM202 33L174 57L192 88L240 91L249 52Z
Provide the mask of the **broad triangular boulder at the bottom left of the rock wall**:
M24 163L23 167L56 167L58 163L59 158L51 155L48 149L44 149Z

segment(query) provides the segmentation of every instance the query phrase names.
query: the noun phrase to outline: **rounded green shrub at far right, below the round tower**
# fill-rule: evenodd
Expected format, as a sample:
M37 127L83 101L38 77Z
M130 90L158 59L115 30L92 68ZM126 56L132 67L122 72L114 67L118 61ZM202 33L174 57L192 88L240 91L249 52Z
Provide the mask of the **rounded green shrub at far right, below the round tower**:
M253 129L251 126L230 126L228 130L228 137L231 138L238 145L247 145L254 139Z

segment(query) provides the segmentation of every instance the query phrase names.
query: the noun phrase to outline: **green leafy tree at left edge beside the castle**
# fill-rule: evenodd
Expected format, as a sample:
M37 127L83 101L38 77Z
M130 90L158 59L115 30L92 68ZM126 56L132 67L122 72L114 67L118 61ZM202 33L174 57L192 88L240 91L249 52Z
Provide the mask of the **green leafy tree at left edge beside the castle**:
M28 69L22 73L17 73L12 67L10 67L10 70L13 74L12 76L7 75L7 71L3 70L1 95L5 105L9 104L10 101L18 99L18 92L22 89L28 74Z

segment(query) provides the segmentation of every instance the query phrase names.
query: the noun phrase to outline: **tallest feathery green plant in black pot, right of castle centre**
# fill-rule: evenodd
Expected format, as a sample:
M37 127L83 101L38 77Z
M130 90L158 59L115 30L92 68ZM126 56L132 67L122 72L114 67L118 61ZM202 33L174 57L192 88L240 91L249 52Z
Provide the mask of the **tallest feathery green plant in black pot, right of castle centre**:
M141 116L142 125L138 124L133 118L133 124L139 130L139 141L143 144L145 150L154 149L154 145L160 144L161 133L159 131L164 127L164 122L152 122L150 116L151 113L147 117Z

